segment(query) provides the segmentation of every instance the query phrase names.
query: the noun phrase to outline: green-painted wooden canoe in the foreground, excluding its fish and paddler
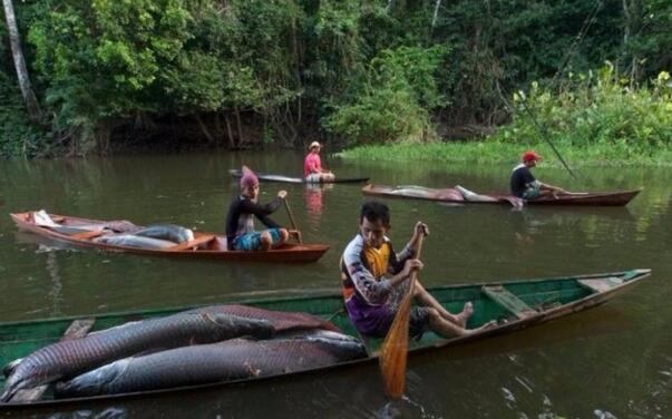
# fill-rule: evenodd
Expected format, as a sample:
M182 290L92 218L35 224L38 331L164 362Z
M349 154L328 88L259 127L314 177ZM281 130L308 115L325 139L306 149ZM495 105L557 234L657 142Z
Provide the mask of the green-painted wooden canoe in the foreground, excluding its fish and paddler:
M603 274L539 280L515 280L508 282L486 282L428 289L428 291L451 312L461 310L465 302L471 301L474 303L475 313L471 319L469 319L469 328L479 327L491 320L496 320L498 323L495 328L454 339L442 339L431 332L425 333L419 341L409 342L410 354L436 351L440 348L455 347L476 340L493 338L600 305L650 274L651 270L637 269ZM348 314L343 308L342 296L338 291L321 292L313 295L304 294L303 296L294 298L261 300L232 299L232 301L227 302L236 302L267 310L311 313L322 319L330 320L348 334L358 335L357 331L350 324ZM186 309L191 308L0 323L0 363L4 366L16 359L23 358L47 344L51 344L61 339L68 339L67 337L64 338L64 333L71 333L70 331L74 329L80 330L80 324L87 324L87 327L90 327L91 331L96 331L129 321L168 315ZM72 324L74 322L77 322L75 323L75 327ZM31 407L76 407L82 406L81 403L84 402L87 403L86 406L90 406L94 401L117 401L124 398L140 397L153 398L159 397L159 394L207 391L207 389L213 388L225 391L227 388L233 389L240 386L247 386L252 382L261 384L262 382L275 382L276 380L290 379L303 374L324 374L329 371L337 369L345 370L354 366L376 366L382 339L366 339L366 343L369 357L321 369L294 371L273 377L203 386L79 399L55 400L52 398L50 399L50 393L47 391L39 400L10 401L0 405L0 412L7 412L11 409L29 409ZM3 387L4 378L2 377L0 378L0 390L2 390ZM221 392L217 391L217 393Z

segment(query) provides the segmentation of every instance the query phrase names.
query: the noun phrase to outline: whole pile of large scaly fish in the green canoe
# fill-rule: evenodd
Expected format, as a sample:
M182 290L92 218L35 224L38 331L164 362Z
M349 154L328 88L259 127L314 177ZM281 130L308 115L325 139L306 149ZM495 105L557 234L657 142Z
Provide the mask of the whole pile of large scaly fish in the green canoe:
M0 399L50 382L58 382L58 397L110 394L272 376L366 354L359 340L309 314L216 305L39 349L6 369Z

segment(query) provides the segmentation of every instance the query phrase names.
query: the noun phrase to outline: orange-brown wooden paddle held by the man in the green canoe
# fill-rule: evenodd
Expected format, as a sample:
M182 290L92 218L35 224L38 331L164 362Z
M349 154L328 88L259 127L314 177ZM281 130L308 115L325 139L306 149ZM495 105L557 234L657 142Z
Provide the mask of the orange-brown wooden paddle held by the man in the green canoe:
M420 257L423 237L425 234L421 234L420 237L418 237L418 253L416 257ZM382 374L386 393L392 399L399 399L403 394L403 388L406 387L408 322L417 272L418 271L413 270L411 273L408 292L403 296L403 300L401 300L401 304L399 304L399 311L397 311L395 321L392 322L388 335L382 342L382 349L380 350L380 372Z

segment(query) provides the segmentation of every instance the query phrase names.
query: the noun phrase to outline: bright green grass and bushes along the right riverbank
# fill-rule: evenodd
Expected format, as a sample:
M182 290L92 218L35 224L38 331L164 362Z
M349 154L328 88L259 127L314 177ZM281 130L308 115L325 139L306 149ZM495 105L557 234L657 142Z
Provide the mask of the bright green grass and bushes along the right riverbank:
M650 88L619 77L610 64L596 74L569 75L558 94L533 82L509 101L512 123L470 142L359 146L340 155L360 160L515 163L535 149L546 164L672 166L672 84L661 72Z

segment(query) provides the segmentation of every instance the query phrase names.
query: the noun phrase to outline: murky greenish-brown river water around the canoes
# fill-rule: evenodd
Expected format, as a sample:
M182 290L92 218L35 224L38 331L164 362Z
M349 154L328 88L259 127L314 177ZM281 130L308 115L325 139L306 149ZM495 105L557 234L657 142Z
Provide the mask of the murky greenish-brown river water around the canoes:
M325 158L323 157L323 160ZM338 290L338 262L357 233L360 185L262 184L262 201L286 188L305 242L331 245L314 264L183 261L61 249L18 233L10 212L221 231L237 186L227 170L299 175L288 152L116 156L3 162L0 167L0 321L214 303L235 295ZM505 189L508 165L325 162L341 176L386 185ZM52 417L665 418L672 416L672 170L595 168L578 179L538 167L572 191L644 191L622 208L448 206L386 201L400 249L417 220L425 285L533 279L650 267L651 277L577 315L464 348L411 358L406 397L388 402L374 368L156 400L42 411ZM284 212L275 220L289 225ZM171 406L171 408L168 408Z

